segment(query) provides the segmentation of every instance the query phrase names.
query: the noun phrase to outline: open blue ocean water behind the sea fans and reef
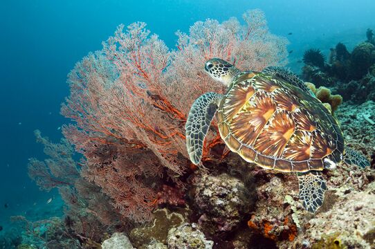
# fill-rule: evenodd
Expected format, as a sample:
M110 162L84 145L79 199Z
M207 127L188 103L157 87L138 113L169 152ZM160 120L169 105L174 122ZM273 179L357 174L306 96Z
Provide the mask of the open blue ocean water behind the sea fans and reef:
M272 33L289 39L289 67L297 73L307 48L321 48L326 55L338 42L352 48L367 28L375 28L372 0L2 1L0 225L6 226L11 215L47 210L41 218L55 210L46 201L54 197L58 202L58 193L40 192L27 175L28 158L44 158L33 131L61 138L60 127L68 122L60 116L68 95L66 74L89 51L99 50L118 24L145 21L175 48L176 30L187 32L207 18L241 19L245 10L255 8L265 12Z

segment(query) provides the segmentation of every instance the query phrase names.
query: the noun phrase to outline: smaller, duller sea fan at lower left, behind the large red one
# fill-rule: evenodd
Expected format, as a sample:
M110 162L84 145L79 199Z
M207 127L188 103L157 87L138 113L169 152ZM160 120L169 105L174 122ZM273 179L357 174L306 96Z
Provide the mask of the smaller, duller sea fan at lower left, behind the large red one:
M64 138L60 143L53 143L38 130L35 136L44 145L48 158L44 161L31 158L28 174L42 190L54 187L59 190L65 203L64 219L69 221L66 236L100 241L104 231L115 231L123 221L120 212L113 208L111 199L98 185L82 177L84 170L73 160L73 147Z

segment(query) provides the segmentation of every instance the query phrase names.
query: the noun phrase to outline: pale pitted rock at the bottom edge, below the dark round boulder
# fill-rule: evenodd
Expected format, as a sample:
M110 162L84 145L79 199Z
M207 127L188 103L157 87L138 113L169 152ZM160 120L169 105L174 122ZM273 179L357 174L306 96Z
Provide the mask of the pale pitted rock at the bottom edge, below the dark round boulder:
M203 232L195 223L184 223L168 232L168 249L212 249L213 241L205 239Z

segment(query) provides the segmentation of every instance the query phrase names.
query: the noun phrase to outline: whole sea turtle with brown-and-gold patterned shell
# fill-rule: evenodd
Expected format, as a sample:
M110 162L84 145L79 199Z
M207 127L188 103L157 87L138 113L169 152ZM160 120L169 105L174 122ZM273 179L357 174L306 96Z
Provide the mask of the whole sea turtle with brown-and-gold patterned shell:
M323 169L342 162L369 166L359 152L345 147L338 120L304 82L282 68L241 72L223 59L210 59L205 71L228 91L195 100L185 125L190 160L201 161L203 141L215 114L221 138L249 163L280 172L297 172L304 208L315 212L327 185Z

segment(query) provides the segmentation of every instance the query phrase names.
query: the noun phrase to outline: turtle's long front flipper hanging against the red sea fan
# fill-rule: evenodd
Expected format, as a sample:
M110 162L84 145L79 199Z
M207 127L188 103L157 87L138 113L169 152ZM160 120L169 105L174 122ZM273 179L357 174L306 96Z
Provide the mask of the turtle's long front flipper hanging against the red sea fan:
M190 160L199 164L203 153L203 141L223 95L205 93L197 98L190 109L185 124L186 147Z

